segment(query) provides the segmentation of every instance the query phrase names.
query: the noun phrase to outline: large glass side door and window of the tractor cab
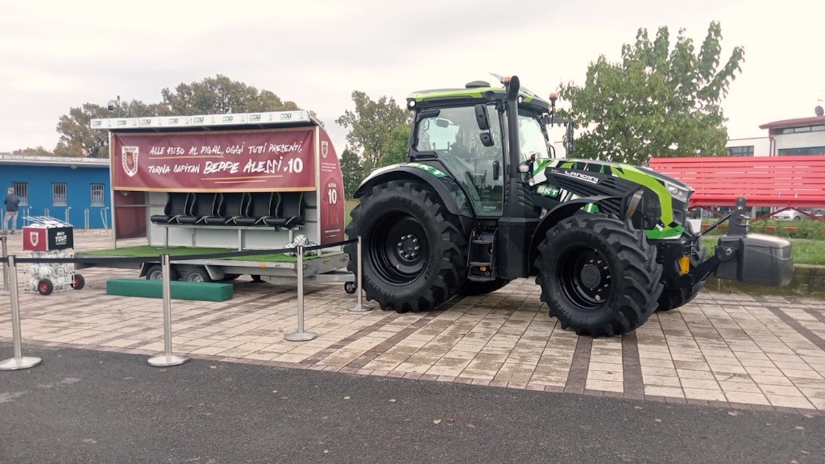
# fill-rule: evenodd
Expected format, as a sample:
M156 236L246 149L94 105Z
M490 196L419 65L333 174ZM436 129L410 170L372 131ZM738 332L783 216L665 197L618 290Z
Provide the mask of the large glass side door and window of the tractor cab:
M435 152L439 161L467 191L478 215L501 215L503 176L494 178L494 163L502 163L502 130L498 111L488 106L493 145L481 142L474 107L443 108L437 115L424 117L416 125L418 152Z

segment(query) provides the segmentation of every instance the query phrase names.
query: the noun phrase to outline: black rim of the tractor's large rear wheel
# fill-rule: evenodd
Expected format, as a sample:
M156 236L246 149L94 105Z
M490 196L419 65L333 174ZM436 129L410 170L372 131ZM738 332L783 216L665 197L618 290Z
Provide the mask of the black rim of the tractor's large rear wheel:
M407 284L427 268L427 232L413 216L384 215L370 234L367 253L385 282Z

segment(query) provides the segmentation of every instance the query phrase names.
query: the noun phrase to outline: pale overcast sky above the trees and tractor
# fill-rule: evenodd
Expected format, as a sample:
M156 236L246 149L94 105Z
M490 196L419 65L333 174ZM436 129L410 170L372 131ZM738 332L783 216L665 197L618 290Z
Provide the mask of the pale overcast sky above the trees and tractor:
M724 113L731 138L814 116L825 99L823 0L0 0L0 152L53 149L70 107L159 102L162 88L224 74L315 111L338 153L334 120L351 92L404 102L426 88L515 74L549 94L583 83L600 54L616 61L639 27L698 48L722 24L724 59L745 48Z

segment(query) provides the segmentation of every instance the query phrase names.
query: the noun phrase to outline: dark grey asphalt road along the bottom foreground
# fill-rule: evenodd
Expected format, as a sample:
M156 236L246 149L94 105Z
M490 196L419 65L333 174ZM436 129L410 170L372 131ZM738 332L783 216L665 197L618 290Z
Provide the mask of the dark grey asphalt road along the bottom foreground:
M23 353L45 361L0 372L0 462L825 462L818 414Z

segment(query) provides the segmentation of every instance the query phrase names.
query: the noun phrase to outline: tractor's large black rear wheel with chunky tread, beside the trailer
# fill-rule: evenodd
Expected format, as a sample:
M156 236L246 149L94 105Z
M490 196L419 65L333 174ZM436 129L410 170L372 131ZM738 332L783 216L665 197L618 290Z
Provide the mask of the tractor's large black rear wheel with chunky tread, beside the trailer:
M467 275L467 237L427 184L399 179L372 187L351 212L347 235L361 235L367 300L399 313L435 310ZM357 271L357 246L347 244Z

